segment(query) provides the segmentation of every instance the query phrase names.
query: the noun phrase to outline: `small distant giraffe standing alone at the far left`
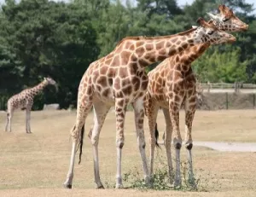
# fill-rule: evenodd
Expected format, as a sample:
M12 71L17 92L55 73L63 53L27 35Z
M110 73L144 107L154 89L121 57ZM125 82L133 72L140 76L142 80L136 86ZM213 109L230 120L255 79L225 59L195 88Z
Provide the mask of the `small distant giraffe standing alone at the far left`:
M26 133L32 133L30 128L30 115L34 97L40 94L49 84L55 85L56 90L58 90L54 79L44 78L40 84L34 86L33 88L22 90L19 94L9 98L7 101L7 122L5 131L11 131L11 120L13 118L14 111L20 108L22 110L26 109Z

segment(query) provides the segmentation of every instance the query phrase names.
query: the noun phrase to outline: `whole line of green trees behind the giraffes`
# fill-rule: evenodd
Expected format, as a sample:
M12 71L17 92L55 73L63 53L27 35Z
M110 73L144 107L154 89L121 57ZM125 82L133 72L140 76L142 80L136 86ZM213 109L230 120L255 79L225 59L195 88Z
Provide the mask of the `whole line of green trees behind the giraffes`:
M195 0L183 8L175 0L6 0L0 10L0 99L50 76L60 90L47 88L34 108L52 102L75 105L90 62L107 55L120 39L183 32L200 16L209 20L206 13L216 14L220 3L232 8L249 30L234 33L232 45L208 49L193 63L194 71L201 82L254 83L256 16L253 5L243 0Z

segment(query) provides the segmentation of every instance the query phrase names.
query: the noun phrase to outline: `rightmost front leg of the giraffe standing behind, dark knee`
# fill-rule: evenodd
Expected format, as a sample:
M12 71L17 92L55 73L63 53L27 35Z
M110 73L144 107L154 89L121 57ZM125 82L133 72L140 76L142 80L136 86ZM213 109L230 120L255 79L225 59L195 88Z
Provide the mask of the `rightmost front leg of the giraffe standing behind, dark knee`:
M185 147L188 152L188 164L189 164L189 183L195 187L195 177L193 173L192 165L192 123L195 116L196 101L195 96L190 96L185 102Z

